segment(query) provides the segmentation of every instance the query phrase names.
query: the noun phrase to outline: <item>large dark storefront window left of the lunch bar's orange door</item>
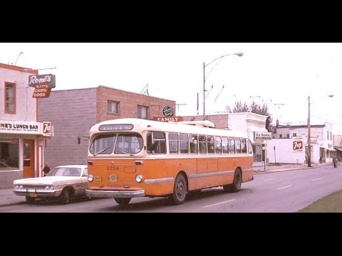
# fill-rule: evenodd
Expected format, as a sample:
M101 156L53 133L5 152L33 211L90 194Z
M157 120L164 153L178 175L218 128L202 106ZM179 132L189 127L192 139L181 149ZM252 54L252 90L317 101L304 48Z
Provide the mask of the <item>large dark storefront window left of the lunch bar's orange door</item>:
M19 169L19 143L0 139L0 171Z

